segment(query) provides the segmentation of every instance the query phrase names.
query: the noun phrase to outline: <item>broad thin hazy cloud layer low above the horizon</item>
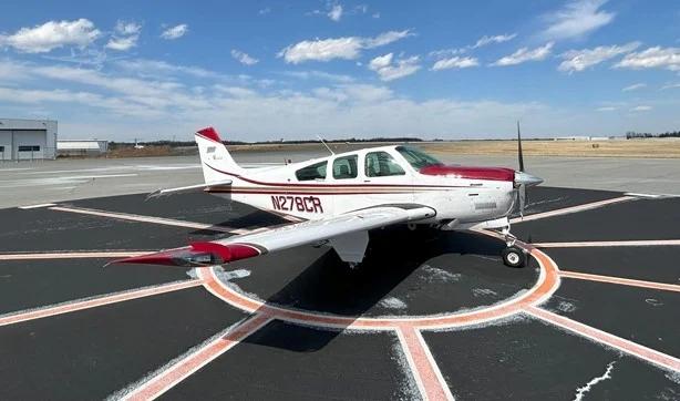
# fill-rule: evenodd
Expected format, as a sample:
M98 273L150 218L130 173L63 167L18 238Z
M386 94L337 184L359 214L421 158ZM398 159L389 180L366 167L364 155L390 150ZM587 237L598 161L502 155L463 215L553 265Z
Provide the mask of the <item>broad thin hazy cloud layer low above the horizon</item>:
M389 65L395 65L396 60L399 55L394 53ZM248 75L235 78L239 82L227 82L220 73L195 66L153 60L120 62L130 62L126 64L130 69L120 66L119 61L97 71L17 61L7 65L8 60L0 59L0 71L13 74L9 78L0 72L0 113L19 110L29 115L40 110L41 115L59 117L61 131L72 137L101 132L109 140L177 135L188 141L196 127L213 124L228 132L230 140L257 141L301 138L319 133L329 138L507 137L508 126L523 116L530 116L530 125L525 127L527 136L611 135L628 128L664 132L672 131L673 119L680 110L677 97L671 96L645 103L653 106L649 112L628 113L640 103L595 106L616 106L628 113L630 120L621 127L618 112L484 99L422 101L382 84L340 81L303 85L310 90L286 91L276 85L260 86ZM156 72L167 74L138 76ZM194 72L197 75L192 80L176 75ZM649 117L651 113L653 119Z

